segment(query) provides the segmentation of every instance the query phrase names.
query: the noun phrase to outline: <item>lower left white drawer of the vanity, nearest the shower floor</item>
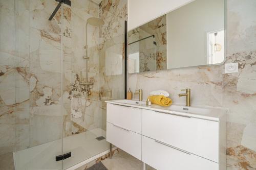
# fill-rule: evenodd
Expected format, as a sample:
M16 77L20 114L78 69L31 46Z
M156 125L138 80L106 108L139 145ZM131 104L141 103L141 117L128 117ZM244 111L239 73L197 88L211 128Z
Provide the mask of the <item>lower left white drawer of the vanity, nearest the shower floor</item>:
M106 141L141 160L141 134L106 123Z

